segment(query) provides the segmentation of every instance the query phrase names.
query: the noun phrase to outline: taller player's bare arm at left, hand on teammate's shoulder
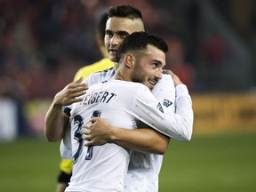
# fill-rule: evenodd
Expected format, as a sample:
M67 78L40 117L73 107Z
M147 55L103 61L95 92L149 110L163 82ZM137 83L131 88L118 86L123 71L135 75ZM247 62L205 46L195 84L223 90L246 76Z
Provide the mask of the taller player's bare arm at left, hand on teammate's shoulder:
M63 112L64 106L81 101L79 96L88 89L87 85L81 81L82 78L68 84L54 96L44 119L44 135L48 141L55 142L63 138L68 124L68 116Z

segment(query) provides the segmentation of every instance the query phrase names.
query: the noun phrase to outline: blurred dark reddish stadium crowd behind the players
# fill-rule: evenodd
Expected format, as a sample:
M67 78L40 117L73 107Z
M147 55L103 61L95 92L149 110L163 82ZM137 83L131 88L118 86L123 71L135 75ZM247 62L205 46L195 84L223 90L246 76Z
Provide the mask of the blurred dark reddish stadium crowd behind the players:
M116 4L140 7L147 30L164 36L170 44L168 68L180 75L190 92L239 91L237 85L244 84L237 83L234 77L236 57L227 39L218 30L207 37L198 30L203 13L196 1L173 2L164 9L164 4L157 7L147 0L1 1L1 94L26 99L52 97L72 80L77 68L99 59L94 22L100 12ZM184 12L180 13L180 9ZM245 61L250 62L248 58ZM242 64L247 69L242 70L245 75L250 66ZM232 73L228 74L228 70ZM225 73L229 79L226 83Z

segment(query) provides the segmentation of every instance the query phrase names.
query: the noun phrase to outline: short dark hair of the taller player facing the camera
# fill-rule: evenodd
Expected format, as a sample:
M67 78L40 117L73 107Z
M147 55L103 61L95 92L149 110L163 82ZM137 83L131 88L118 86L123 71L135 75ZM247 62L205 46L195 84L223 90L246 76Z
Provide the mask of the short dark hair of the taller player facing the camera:
M142 14L140 10L132 5L119 5L110 7L110 9L108 10L108 18L112 17L129 18L131 20L142 20Z

